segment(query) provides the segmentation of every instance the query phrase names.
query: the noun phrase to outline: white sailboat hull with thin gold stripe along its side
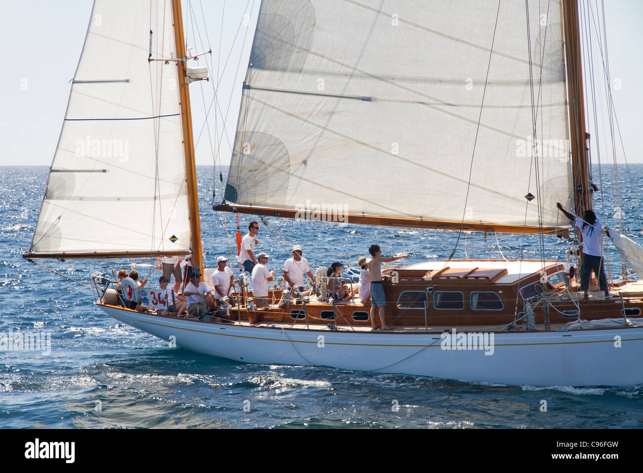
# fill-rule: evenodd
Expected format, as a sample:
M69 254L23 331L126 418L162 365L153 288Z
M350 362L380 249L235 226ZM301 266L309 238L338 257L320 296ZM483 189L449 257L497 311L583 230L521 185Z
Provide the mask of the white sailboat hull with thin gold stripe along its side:
M247 363L329 366L507 385L643 383L638 361L643 358L640 327L495 333L493 355L485 355L482 349L442 349L440 333L206 324L101 308L125 324L174 340L181 348ZM615 346L617 336L620 348Z

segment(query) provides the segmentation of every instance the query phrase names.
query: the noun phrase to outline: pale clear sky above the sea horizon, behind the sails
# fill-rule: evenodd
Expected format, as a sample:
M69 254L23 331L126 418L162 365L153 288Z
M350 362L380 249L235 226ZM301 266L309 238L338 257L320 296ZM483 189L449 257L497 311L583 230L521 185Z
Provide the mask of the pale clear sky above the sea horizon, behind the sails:
M222 38L221 68L230 53L218 88L223 113L228 107L230 109L226 121L230 140L234 136L240 86L248 64L259 5L259 0L249 0L246 14L251 7L253 13L242 22L246 1L226 1L223 14L223 0L201 0L213 57L219 53L219 38ZM201 3L199 0L192 1L192 7L198 13L195 16L199 18ZM0 37L5 45L6 59L0 74L0 141L3 143L0 165L51 164L67 106L71 87L69 80L73 77L80 56L91 5L91 0L2 0L5 23ZM188 19L189 8L185 1L183 15L184 19ZM618 84L613 90L613 98L628 162L643 163L643 140L640 140L640 115L643 112L643 54L640 51L643 44L643 0L606 0L605 15L611 82ZM241 25L237 41L233 42L240 23L247 25ZM199 29L203 35L203 24ZM244 35L246 44L242 50ZM188 42L194 44L189 37ZM201 52L201 48L197 47L197 50ZM215 77L216 71L211 71L211 75ZM190 86L195 140L204 124L205 112L199 89L202 87L208 106L212 85L202 82ZM213 133L213 122L210 127ZM594 133L592 129L588 131ZM230 160L230 149L226 142L224 135L221 147L223 164ZM197 164L212 164L207 134L201 136L196 151ZM606 156L602 160L605 162ZM622 157L619 161L622 161Z

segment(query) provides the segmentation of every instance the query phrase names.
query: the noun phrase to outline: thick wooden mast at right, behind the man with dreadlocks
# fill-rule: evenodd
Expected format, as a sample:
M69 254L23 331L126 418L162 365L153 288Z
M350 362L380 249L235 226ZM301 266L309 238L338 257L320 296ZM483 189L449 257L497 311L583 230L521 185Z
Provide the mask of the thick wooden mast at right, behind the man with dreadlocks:
M579 30L577 0L563 0L565 21L565 62L567 66L567 97L572 151L572 179L574 183L574 211L583 216L592 210L589 163L586 153L585 104L583 98L583 57Z

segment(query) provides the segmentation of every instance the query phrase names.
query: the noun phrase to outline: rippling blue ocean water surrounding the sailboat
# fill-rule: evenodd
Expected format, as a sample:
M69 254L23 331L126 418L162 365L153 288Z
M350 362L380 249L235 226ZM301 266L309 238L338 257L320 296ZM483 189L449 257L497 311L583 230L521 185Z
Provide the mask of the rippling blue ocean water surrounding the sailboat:
M46 351L0 351L0 427L418 427L606 428L643 426L643 386L504 386L420 376L376 375L339 369L249 365L172 348L111 319L90 290L52 274L21 255L40 209L47 167L0 167L0 332L37 331L51 337ZM643 165L601 169L599 218L643 243L638 216ZM206 263L232 250L236 216L213 212L212 167L197 168ZM594 166L595 182L600 178ZM216 176L218 180L218 172ZM225 175L224 175L225 181ZM621 206L617 204L619 184ZM217 187L217 201L221 192ZM248 216L240 216L247 227ZM371 243L385 254L409 253L410 263L446 259L457 234L270 219L304 247L311 266L352 263ZM261 226L261 250L278 268L287 255ZM456 258L564 259L555 237L463 234ZM610 250L613 277L620 258ZM71 279L107 263L44 261ZM537 360L534 362L538 362ZM638 360L632 360L638 364ZM543 366L543 369L547 369ZM539 409L547 401L547 412ZM246 409L244 410L244 407ZM397 407L397 409L396 409ZM249 410L248 410L249 408Z

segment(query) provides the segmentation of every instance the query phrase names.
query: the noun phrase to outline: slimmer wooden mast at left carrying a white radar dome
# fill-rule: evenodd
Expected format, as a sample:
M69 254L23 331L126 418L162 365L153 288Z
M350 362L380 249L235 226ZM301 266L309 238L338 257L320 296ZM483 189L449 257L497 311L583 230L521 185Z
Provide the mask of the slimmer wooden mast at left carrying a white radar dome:
M201 221L199 220L199 195L197 192L197 173L194 158L194 136L192 136L192 113L190 112L190 89L186 82L187 64L185 62L185 40L183 38L183 16L181 0L172 0L172 19L174 21L174 44L179 79L179 106L181 107L181 126L183 128L183 151L185 154L185 174L188 190L190 215L190 239L192 240L192 259L203 271L203 248L201 248Z

